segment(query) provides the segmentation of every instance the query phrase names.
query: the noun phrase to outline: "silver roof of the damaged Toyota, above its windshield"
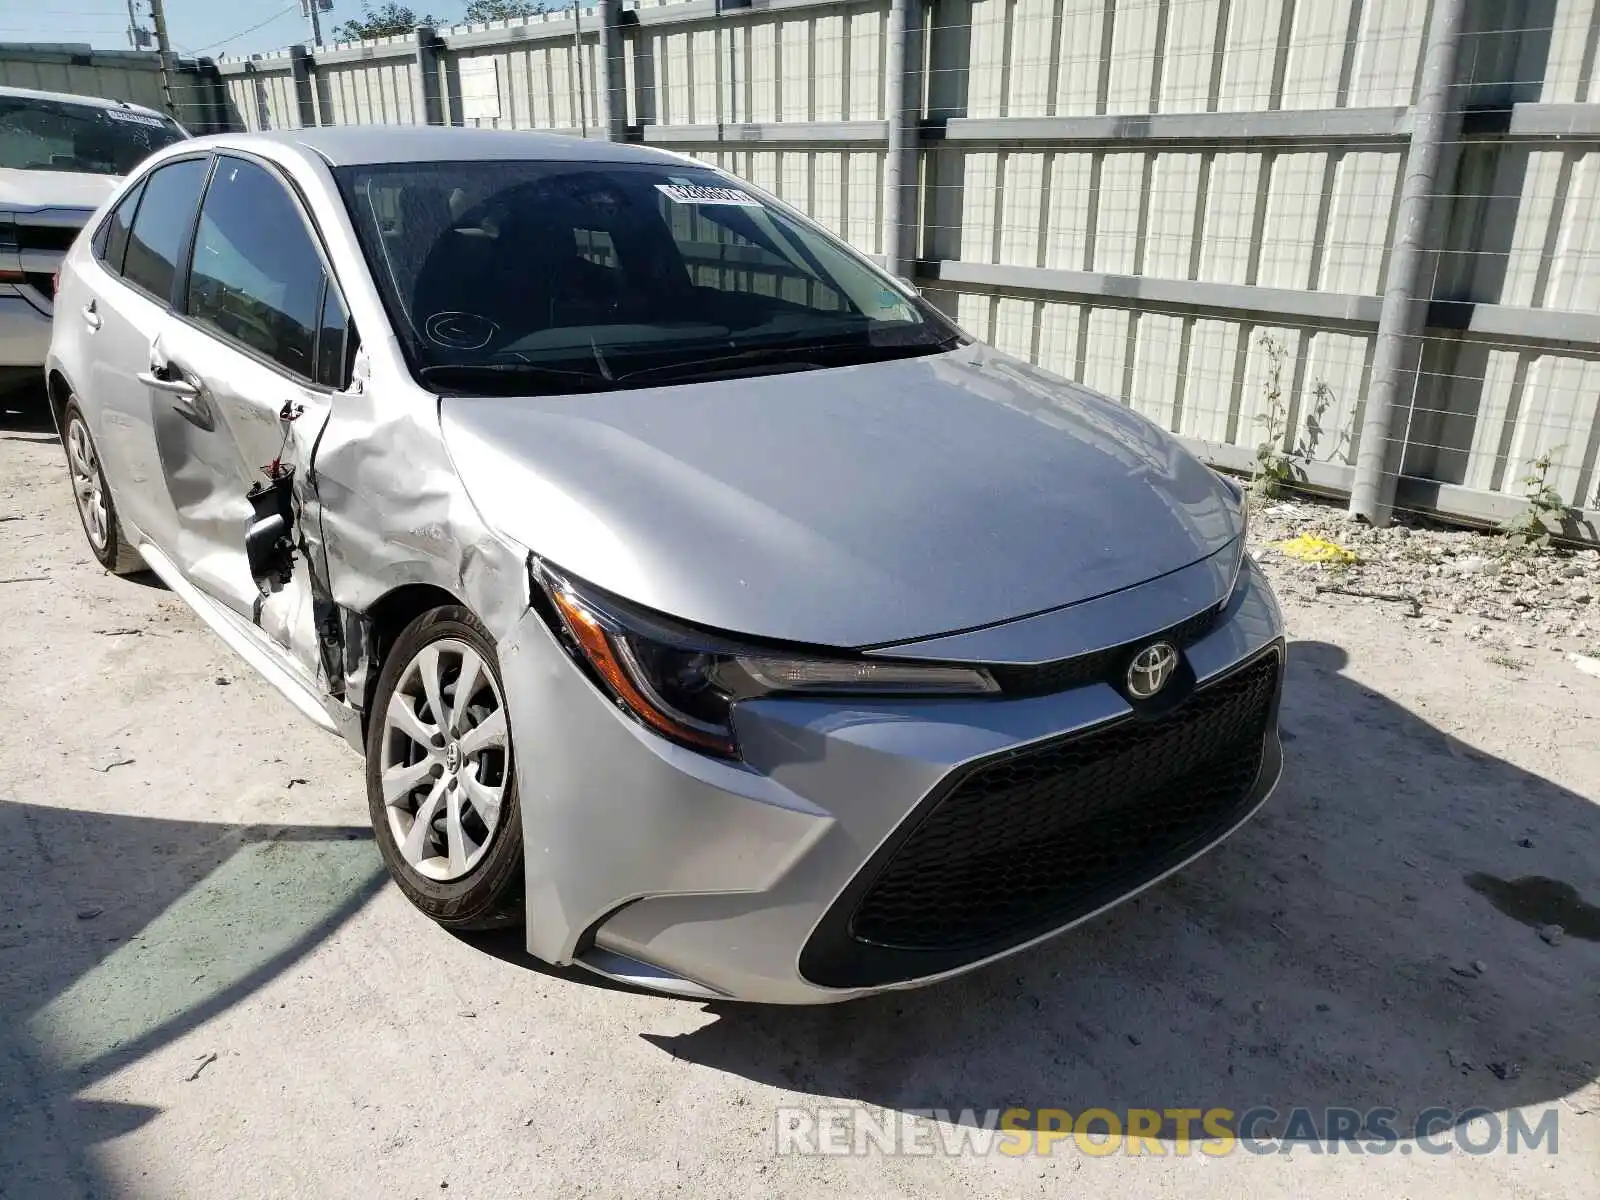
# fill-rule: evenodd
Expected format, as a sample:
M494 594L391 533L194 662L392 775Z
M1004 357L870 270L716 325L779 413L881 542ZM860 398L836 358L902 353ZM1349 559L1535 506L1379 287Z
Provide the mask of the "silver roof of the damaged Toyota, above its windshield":
M568 138L534 130L466 130L434 125L344 125L328 130L232 133L202 139L216 146L304 147L330 166L405 162L558 160L594 163L680 163L682 155L645 146Z

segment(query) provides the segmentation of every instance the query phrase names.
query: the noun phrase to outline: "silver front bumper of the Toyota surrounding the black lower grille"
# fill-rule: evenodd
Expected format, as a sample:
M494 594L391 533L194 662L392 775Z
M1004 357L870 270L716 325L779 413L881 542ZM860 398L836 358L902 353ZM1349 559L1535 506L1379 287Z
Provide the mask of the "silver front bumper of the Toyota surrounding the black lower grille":
M1184 650L1195 694L1274 645L1282 661L1277 603L1246 560L1221 619ZM1043 928L1022 923L1010 938L942 955L878 954L850 942L850 909L942 789L995 755L1128 717L1122 694L1091 683L1027 699L752 701L736 714L744 762L728 763L618 712L536 614L502 640L501 667L526 843L528 950L683 995L837 1002L1014 954L1210 850L1266 800L1282 765L1278 670L1259 766L1200 837L1122 872Z

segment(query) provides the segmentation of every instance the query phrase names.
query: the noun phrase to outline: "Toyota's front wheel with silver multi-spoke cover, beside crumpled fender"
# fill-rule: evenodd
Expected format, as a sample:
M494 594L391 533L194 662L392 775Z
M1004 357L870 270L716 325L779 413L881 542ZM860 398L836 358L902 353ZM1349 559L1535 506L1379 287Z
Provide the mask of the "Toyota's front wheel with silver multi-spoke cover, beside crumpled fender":
M520 914L522 811L494 642L459 605L395 640L366 734L366 803L395 885L451 930Z

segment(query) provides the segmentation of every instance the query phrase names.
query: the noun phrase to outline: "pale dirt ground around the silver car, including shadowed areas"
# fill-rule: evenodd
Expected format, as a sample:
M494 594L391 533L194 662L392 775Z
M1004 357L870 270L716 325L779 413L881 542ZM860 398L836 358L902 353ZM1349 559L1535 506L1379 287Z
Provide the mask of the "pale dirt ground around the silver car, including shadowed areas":
M1600 1195L1600 678L1285 582L1286 774L1189 870L941 987L643 997L411 910L358 760L101 571L0 418L0 1195ZM838 1104L1482 1106L1558 1147L776 1154Z

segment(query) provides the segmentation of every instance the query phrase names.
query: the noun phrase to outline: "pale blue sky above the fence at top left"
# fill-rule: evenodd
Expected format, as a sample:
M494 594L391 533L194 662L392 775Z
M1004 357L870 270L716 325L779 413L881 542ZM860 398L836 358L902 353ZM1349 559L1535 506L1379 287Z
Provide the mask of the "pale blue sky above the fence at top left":
M466 0L406 0L418 13L454 24ZM149 27L147 0L134 0ZM374 5L379 6L379 5ZM323 37L360 16L360 0L333 0L322 14ZM301 0L166 0L166 30L179 54L254 54L310 42ZM88 42L96 50L130 50L126 0L0 0L0 42Z

